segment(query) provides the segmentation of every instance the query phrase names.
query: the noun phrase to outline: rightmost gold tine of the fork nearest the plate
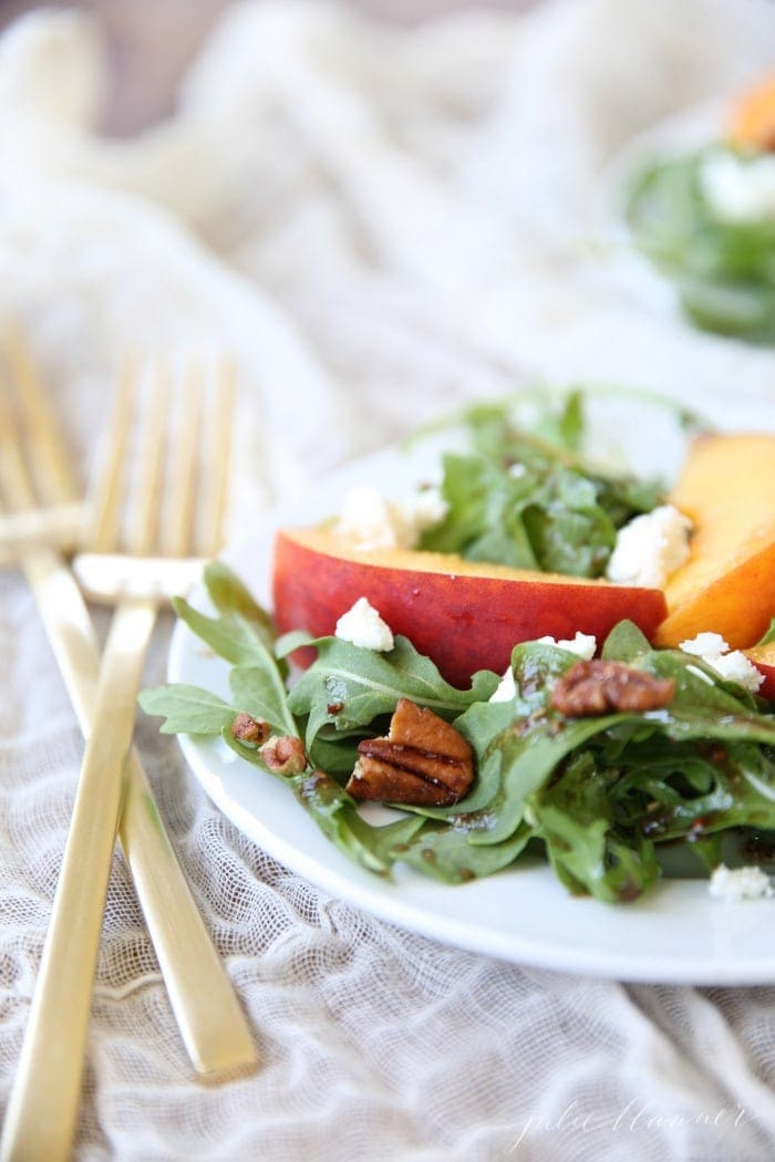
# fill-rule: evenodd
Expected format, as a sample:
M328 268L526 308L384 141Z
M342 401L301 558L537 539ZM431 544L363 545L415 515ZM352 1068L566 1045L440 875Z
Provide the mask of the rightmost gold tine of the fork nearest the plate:
M200 501L200 526L198 548L202 557L214 557L223 544L229 460L231 457L231 432L234 423L235 370L230 360L220 359L215 368L215 392L210 401L210 421L204 456Z

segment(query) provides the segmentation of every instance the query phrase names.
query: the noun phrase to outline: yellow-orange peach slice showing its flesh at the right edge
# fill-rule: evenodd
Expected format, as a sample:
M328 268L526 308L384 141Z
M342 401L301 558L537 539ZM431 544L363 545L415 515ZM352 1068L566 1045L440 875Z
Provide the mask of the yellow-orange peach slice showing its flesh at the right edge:
M656 644L712 630L733 650L752 646L775 615L775 436L701 436L670 501L695 531Z

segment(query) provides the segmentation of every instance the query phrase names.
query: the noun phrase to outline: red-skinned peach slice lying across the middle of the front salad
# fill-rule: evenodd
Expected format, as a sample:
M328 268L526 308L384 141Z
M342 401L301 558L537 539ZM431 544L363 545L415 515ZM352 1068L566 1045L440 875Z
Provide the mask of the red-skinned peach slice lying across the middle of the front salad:
M395 633L465 687L478 669L502 673L518 641L577 630L598 641L623 618L648 637L667 612L659 589L467 561L409 550L358 552L332 529L278 533L274 611L281 632L333 633L365 596Z

